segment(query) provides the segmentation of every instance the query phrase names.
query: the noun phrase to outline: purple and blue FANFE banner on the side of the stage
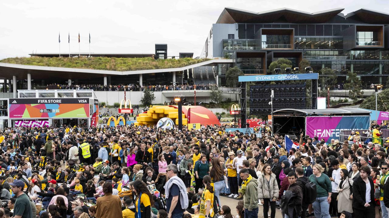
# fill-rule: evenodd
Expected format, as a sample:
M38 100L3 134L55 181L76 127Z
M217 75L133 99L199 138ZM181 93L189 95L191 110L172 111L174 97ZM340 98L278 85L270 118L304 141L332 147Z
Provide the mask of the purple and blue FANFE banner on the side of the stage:
M330 143L331 138L339 139L340 130L367 130L369 127L370 116L312 116L306 119L305 134Z

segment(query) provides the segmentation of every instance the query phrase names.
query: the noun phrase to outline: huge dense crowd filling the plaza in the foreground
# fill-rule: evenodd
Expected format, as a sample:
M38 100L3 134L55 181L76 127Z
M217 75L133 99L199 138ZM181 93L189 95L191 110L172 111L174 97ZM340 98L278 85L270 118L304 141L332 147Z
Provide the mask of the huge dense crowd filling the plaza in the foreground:
M266 125L251 134L5 128L0 217L257 218L261 206L264 218L276 209L284 218L388 218L389 140L376 140L379 128L366 144L303 134L289 141Z

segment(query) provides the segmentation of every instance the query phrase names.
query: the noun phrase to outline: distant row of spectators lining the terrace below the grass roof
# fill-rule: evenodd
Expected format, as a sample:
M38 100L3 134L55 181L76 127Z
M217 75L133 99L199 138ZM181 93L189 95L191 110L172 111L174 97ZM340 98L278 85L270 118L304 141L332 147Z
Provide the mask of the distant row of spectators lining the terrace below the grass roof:
M80 85L65 85L65 84L49 84L47 85L48 89L75 89L75 90L88 90L93 89L95 91L143 91L146 88L150 89L153 92L161 92L161 91L172 91L172 90L194 90L196 87L196 90L209 90L209 87L211 84L197 84L194 85L135 85L135 84L119 84L119 85L86 85L86 84L80 84Z

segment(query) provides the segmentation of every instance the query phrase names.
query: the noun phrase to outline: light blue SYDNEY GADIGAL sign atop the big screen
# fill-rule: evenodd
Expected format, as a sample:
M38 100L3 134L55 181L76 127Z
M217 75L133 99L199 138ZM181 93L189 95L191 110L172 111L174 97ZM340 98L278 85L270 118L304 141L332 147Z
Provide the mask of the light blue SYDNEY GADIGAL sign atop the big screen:
M318 73L239 76L239 81L240 82L285 81L285 80L317 80L317 79L319 79L319 74Z

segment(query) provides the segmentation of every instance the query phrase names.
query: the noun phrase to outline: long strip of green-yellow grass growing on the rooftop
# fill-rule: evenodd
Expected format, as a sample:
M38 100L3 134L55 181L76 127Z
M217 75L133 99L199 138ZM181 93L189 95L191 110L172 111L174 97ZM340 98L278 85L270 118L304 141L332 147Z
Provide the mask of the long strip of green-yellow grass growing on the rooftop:
M0 60L3 63L23 64L47 67L68 67L112 71L135 71L184 67L210 59L166 59L154 60L151 57L117 58L117 57L14 57Z

